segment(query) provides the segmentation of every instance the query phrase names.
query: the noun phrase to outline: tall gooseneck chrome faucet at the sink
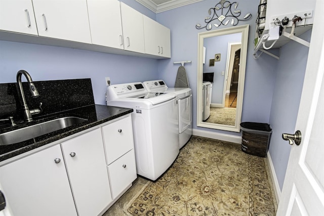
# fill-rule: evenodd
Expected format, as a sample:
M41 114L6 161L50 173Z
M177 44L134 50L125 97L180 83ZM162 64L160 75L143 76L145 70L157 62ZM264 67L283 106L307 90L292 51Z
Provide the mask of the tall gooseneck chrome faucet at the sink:
M29 75L29 73L25 70L19 70L17 72L17 83L18 83L18 94L20 94L21 99L22 99L22 109L23 109L23 113L24 113L24 118L26 121L32 121L32 114L37 114L37 113L41 113L42 112L42 103L39 103L39 109L32 109L29 110L27 103L26 103L26 98L24 95L24 90L22 88L22 83L21 83L21 75L24 75L28 81L28 85L29 85L29 91L31 93L31 97L36 98L39 96L38 91L34 85L34 83L32 82L32 79Z

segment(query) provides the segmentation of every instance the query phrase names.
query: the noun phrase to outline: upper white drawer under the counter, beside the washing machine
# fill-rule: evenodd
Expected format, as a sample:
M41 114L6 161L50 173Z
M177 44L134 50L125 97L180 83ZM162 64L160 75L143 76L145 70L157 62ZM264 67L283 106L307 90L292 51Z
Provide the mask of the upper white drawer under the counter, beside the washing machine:
M102 127L108 164L134 148L131 116Z

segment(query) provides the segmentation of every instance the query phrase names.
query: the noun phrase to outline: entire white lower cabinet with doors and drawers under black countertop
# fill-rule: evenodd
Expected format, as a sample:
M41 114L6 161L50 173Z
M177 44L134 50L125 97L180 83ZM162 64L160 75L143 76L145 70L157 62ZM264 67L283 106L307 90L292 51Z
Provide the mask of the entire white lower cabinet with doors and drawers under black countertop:
M113 160L105 157L111 146L118 152ZM100 215L136 177L130 114L0 166L12 216Z

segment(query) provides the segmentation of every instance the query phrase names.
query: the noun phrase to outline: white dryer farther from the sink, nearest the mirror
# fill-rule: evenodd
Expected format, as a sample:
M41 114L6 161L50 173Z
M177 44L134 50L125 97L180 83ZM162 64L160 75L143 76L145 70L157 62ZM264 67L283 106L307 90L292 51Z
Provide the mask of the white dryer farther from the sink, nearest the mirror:
M166 92L177 95L178 115L176 122L179 133L179 149L192 135L192 91L190 88L168 88L163 80L144 81L144 87L149 92Z

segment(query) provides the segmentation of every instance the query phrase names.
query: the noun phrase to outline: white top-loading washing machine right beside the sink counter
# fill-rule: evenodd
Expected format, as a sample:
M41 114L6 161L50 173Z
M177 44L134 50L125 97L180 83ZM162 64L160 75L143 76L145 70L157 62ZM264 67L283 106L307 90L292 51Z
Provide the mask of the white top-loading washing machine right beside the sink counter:
M133 108L137 174L155 181L179 154L176 94L149 93L141 82L107 88L107 105ZM118 145L118 143L116 143Z

